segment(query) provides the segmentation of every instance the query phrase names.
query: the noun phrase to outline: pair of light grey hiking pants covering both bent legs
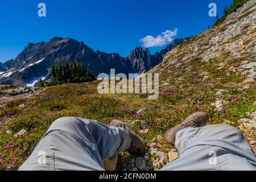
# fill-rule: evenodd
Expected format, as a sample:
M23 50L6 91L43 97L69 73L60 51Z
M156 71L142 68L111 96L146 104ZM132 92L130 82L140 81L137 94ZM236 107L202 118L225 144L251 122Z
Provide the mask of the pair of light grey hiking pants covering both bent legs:
M19 170L104 170L103 161L130 147L122 128L89 119L59 118ZM179 159L162 170L251 170L256 157L235 127L214 125L177 132Z

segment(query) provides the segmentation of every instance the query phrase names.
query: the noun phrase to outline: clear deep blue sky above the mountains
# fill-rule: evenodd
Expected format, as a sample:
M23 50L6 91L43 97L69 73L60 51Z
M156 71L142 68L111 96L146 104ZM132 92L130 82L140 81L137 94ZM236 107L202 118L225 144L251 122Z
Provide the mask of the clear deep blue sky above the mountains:
M38 16L40 2L46 4L46 17ZM166 32L167 37L184 38L200 34L216 20L208 15L211 2L221 16L233 0L1 0L0 61L16 57L28 42L47 42L54 36L127 56L136 46L148 45L140 41L147 35L163 37L161 33ZM150 47L150 52L167 46L164 43Z

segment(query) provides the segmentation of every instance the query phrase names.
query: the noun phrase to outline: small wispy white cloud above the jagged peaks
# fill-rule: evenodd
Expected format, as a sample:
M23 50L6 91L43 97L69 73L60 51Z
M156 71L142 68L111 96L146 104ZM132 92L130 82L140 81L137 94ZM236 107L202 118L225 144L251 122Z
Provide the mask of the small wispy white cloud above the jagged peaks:
M177 35L177 28L175 28L174 31L167 30L165 32L162 32L161 35L154 36L147 35L144 38L140 39L139 41L142 42L143 47L158 47L158 46L164 46L164 44L172 42L172 37Z

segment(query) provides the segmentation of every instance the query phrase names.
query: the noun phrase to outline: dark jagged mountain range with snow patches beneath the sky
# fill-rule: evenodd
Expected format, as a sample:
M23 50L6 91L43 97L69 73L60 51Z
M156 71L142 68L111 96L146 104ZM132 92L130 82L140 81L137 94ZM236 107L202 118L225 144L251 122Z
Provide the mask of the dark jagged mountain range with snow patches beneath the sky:
M57 63L66 61L85 65L86 68L97 76L99 73L110 73L114 68L115 73L145 73L159 64L164 54L185 39L175 39L170 45L154 55L148 49L136 47L127 57L118 53L105 53L93 51L84 42L71 38L55 37L49 42L28 43L24 50L15 58L0 64L0 84L24 86L34 82L35 78L50 78L50 68Z

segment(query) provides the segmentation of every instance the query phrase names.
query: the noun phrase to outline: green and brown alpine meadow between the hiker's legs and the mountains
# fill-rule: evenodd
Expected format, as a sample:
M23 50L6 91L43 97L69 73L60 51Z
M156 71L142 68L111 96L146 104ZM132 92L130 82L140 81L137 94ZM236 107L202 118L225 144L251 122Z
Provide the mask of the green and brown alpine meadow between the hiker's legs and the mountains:
M106 124L112 119L121 119L128 123L138 119L146 123L150 129L147 134L141 134L148 143L157 135L164 137L164 133L170 127L182 122L187 115L195 111L207 112L212 124L222 123L223 119L237 123L238 119L246 117L246 112L256 109L253 105L256 100L255 90L246 89L238 92L230 88L223 96L230 105L225 106L225 113L219 113L210 105L216 101L215 89L225 88L221 82L217 82L217 77L224 77L225 82L241 82L242 78L236 75L226 76L225 71L216 72L218 61L212 59L212 63L210 62L203 63L195 59L187 65L193 65L190 71L184 70L183 73L175 71L175 66L168 68L171 71L169 77L163 75L160 80L172 84L161 86L159 99L155 101L147 100L147 94L98 94L98 82L92 82L51 86L36 98L9 102L5 108L0 109L1 119L14 117L1 129L0 169L18 168L31 154L35 144L51 123L65 116L96 119ZM208 80L202 80L202 69L208 72L209 79L216 84L210 85ZM193 72L195 74L191 77L190 74ZM26 108L19 108L20 104L25 104ZM136 112L142 108L143 113L137 115ZM27 134L14 138L13 135L22 129L27 130ZM139 133L138 131L144 128L136 124L133 129ZM11 134L6 134L6 130L11 131ZM163 146L160 148L161 151L172 148L164 139L158 143ZM15 158L18 162L13 164ZM126 160L129 157L125 153L119 158Z

